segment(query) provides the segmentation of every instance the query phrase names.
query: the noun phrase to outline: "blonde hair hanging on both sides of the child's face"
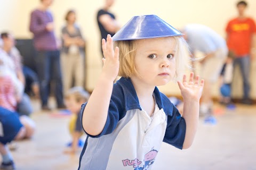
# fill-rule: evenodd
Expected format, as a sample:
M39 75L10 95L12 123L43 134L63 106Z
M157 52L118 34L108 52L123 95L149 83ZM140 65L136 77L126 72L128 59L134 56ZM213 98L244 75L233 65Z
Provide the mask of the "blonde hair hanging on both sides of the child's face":
M189 48L186 40L182 36L171 37L177 43L177 52L175 54L176 72L174 80L181 80L186 68L191 68L188 64L190 60ZM119 48L119 72L118 75L125 78L130 78L133 75L140 76L135 69L134 58L137 52L136 40L121 40L115 41L115 46Z

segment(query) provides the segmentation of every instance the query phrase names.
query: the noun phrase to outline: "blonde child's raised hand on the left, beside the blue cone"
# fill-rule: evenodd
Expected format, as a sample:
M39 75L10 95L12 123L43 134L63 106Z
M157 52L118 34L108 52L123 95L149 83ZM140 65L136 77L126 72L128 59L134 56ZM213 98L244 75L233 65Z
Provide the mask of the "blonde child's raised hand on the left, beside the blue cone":
M102 39L102 51L104 58L102 72L110 80L115 80L119 71L119 48L113 49L113 39L110 35L107 36L107 42Z

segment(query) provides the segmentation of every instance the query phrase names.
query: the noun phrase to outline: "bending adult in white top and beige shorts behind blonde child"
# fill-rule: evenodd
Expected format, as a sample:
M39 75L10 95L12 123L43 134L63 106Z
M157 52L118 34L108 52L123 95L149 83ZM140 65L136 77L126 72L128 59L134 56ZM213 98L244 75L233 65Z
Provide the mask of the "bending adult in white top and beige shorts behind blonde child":
M222 66L228 54L225 39L209 27L201 24L188 24L183 30L184 38L194 56L196 51L204 53L200 61L199 75L204 79L204 90L200 104L200 114L212 115L212 86L219 79Z

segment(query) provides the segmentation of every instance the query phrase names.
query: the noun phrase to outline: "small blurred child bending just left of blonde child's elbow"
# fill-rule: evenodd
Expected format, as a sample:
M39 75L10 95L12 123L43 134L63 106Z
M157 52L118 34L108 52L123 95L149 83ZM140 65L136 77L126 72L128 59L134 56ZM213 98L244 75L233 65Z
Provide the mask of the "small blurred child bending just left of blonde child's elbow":
M83 103L89 100L90 94L82 87L73 87L67 91L65 102L67 109L72 113L69 122L69 131L72 136L71 148L65 150L66 154L74 154L78 149L79 138L83 134L80 111Z

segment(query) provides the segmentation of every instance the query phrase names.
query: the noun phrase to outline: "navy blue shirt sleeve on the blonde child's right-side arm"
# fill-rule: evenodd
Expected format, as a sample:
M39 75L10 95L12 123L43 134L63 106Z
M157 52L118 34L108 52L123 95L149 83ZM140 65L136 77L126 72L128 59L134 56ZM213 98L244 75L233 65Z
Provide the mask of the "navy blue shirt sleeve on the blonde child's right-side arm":
M173 104L172 104L173 105ZM164 135L164 142L182 149L186 134L186 122L181 117L178 109L173 105L172 115L167 115L167 126Z

